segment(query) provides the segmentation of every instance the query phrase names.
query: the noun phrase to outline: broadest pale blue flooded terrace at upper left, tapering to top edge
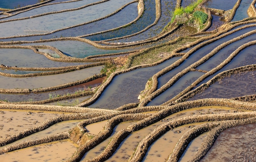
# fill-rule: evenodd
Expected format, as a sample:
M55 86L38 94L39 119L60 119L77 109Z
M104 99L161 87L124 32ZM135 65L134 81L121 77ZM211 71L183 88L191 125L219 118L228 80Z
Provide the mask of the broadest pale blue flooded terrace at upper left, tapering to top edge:
M0 37L48 33L83 22L103 18L131 0L110 0L83 9L0 23ZM68 20L68 21L67 21ZM9 30L9 29L12 30Z

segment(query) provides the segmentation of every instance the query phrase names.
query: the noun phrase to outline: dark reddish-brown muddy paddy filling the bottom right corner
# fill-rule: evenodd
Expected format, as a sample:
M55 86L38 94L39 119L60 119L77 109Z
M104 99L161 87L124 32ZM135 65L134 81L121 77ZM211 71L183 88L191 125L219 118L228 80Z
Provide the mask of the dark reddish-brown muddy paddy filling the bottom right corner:
M200 162L255 162L256 123L223 131Z

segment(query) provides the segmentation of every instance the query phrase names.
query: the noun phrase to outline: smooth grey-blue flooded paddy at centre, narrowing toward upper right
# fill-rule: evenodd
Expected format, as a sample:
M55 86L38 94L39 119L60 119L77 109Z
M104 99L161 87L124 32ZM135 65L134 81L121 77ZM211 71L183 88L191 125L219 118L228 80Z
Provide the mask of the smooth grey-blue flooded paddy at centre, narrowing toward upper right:
M119 74L103 91L99 99L88 107L115 109L124 104L139 102L138 96L144 90L148 79L177 59L180 59L180 57L174 57L157 66L139 68Z

